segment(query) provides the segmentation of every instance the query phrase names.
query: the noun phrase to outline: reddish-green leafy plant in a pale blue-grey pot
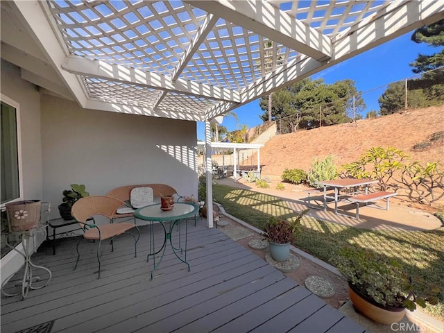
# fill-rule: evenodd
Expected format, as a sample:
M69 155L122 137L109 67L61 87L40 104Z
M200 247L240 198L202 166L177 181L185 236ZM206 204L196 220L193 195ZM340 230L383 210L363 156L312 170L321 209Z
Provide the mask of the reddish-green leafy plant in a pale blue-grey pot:
M273 260L284 262L290 255L290 244L296 239L296 234L300 228L300 219L307 214L309 210L302 211L295 219L290 222L282 219L276 219L271 216L266 223L262 235L268 241L268 250Z

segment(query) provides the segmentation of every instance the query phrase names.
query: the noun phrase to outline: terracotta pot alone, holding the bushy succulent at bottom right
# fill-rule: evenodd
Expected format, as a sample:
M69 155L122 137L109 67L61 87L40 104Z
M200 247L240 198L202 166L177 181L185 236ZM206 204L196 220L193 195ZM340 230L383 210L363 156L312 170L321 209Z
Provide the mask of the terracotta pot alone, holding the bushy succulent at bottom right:
M355 310L367 318L382 324L398 323L405 315L404 307L386 307L375 302L366 295L362 295L353 287L352 284L348 284L348 295L353 303Z

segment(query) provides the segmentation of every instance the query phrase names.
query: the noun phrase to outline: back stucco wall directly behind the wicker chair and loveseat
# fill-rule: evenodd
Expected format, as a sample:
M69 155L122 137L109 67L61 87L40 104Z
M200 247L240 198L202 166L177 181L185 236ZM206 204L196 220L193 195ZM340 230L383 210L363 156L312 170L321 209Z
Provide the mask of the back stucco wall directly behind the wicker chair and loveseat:
M196 123L86 110L42 95L44 197L57 206L69 185L91 195L122 185L165 183L197 196Z

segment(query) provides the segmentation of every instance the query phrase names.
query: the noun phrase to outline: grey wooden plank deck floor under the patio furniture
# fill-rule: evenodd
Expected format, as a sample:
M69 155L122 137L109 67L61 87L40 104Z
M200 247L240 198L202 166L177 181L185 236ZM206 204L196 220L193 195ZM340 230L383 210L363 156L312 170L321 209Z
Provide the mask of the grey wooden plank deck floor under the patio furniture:
M197 227L189 222L191 271L167 248L150 280L148 227L140 230L138 256L132 237L121 235L114 253L107 248L103 254L99 280L96 244L83 243L76 271L77 239L58 241L57 255L51 244L43 244L32 259L49 268L53 278L48 286L29 291L25 300L2 296L1 332L52 321L51 332L364 332L203 221Z

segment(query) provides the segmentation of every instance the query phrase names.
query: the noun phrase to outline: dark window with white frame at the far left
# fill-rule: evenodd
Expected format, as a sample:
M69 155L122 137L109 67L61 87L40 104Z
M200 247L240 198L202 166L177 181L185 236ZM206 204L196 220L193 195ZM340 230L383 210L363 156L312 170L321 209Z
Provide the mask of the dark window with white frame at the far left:
M1 95L1 205L22 196L19 105Z

